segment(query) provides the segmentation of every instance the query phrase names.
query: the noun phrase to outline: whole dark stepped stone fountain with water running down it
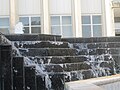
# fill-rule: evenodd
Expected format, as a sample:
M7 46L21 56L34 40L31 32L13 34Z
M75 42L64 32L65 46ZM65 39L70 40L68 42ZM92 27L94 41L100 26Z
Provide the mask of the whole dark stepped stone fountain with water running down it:
M12 45L13 82L19 81L20 78L15 75L22 72L21 82L27 90L64 90L65 82L119 72L116 56L120 53L120 46L117 37L113 41L111 38L61 39L43 34L6 35L6 38L1 35L0 41L3 45ZM19 62L22 71L16 62ZM22 87L14 83L13 86Z

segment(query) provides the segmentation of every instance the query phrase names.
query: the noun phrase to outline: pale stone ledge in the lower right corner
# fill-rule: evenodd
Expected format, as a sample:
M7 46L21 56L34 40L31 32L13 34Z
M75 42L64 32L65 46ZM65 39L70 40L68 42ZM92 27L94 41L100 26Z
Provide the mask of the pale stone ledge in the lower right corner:
M65 90L120 90L120 75L68 82Z

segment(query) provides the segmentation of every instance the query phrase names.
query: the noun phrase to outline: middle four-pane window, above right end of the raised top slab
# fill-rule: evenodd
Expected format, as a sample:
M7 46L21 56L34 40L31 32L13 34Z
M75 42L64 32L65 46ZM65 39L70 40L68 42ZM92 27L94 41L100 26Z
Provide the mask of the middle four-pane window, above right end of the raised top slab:
M71 37L71 16L51 16L51 33L54 35L62 35L63 37Z

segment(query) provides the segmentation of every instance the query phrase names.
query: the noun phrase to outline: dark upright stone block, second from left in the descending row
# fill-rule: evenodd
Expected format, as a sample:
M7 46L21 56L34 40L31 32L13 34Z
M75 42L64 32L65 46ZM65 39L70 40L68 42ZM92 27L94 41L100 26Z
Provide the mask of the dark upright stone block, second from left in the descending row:
M24 58L13 57L13 90L25 90Z

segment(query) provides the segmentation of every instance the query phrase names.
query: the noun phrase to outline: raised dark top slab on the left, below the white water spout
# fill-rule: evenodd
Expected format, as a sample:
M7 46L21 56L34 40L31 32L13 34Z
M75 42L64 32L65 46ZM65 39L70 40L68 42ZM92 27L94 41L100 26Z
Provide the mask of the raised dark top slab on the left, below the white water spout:
M5 35L10 41L60 41L61 36L47 34L10 34Z

